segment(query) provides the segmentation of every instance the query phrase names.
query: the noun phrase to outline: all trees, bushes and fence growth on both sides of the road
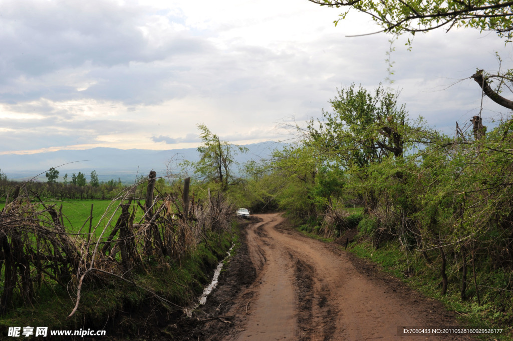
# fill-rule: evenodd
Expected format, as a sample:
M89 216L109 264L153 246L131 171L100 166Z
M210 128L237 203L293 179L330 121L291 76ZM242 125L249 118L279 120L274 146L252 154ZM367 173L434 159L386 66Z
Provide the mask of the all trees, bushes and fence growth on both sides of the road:
M410 118L383 86L353 84L330 103L319 119L290 127L295 142L245 165L235 162L244 148L199 125L200 161L177 165L172 181L152 172L110 201L69 200L48 189L53 182L9 187L1 178L5 321L40 318L35 311L54 297L56 314L72 317L66 323L93 323L100 317L91 304L106 293L107 315L150 297L162 311L179 311L229 247L233 212L246 207L285 211L304 233L337 240L469 324L510 337L511 119L487 128L474 116L448 136Z

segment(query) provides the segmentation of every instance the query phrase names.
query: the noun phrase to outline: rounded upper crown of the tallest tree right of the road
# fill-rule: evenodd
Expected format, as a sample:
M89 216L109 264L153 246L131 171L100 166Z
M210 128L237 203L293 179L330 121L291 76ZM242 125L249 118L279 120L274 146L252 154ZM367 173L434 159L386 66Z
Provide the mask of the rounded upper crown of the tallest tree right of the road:
M308 143L316 146L331 166L344 169L361 169L388 156L401 158L411 143L429 143L427 134L419 134L421 119L413 123L416 128L410 128L398 95L381 85L373 94L354 84L339 90L330 100L334 112L323 111L321 120L309 122Z

